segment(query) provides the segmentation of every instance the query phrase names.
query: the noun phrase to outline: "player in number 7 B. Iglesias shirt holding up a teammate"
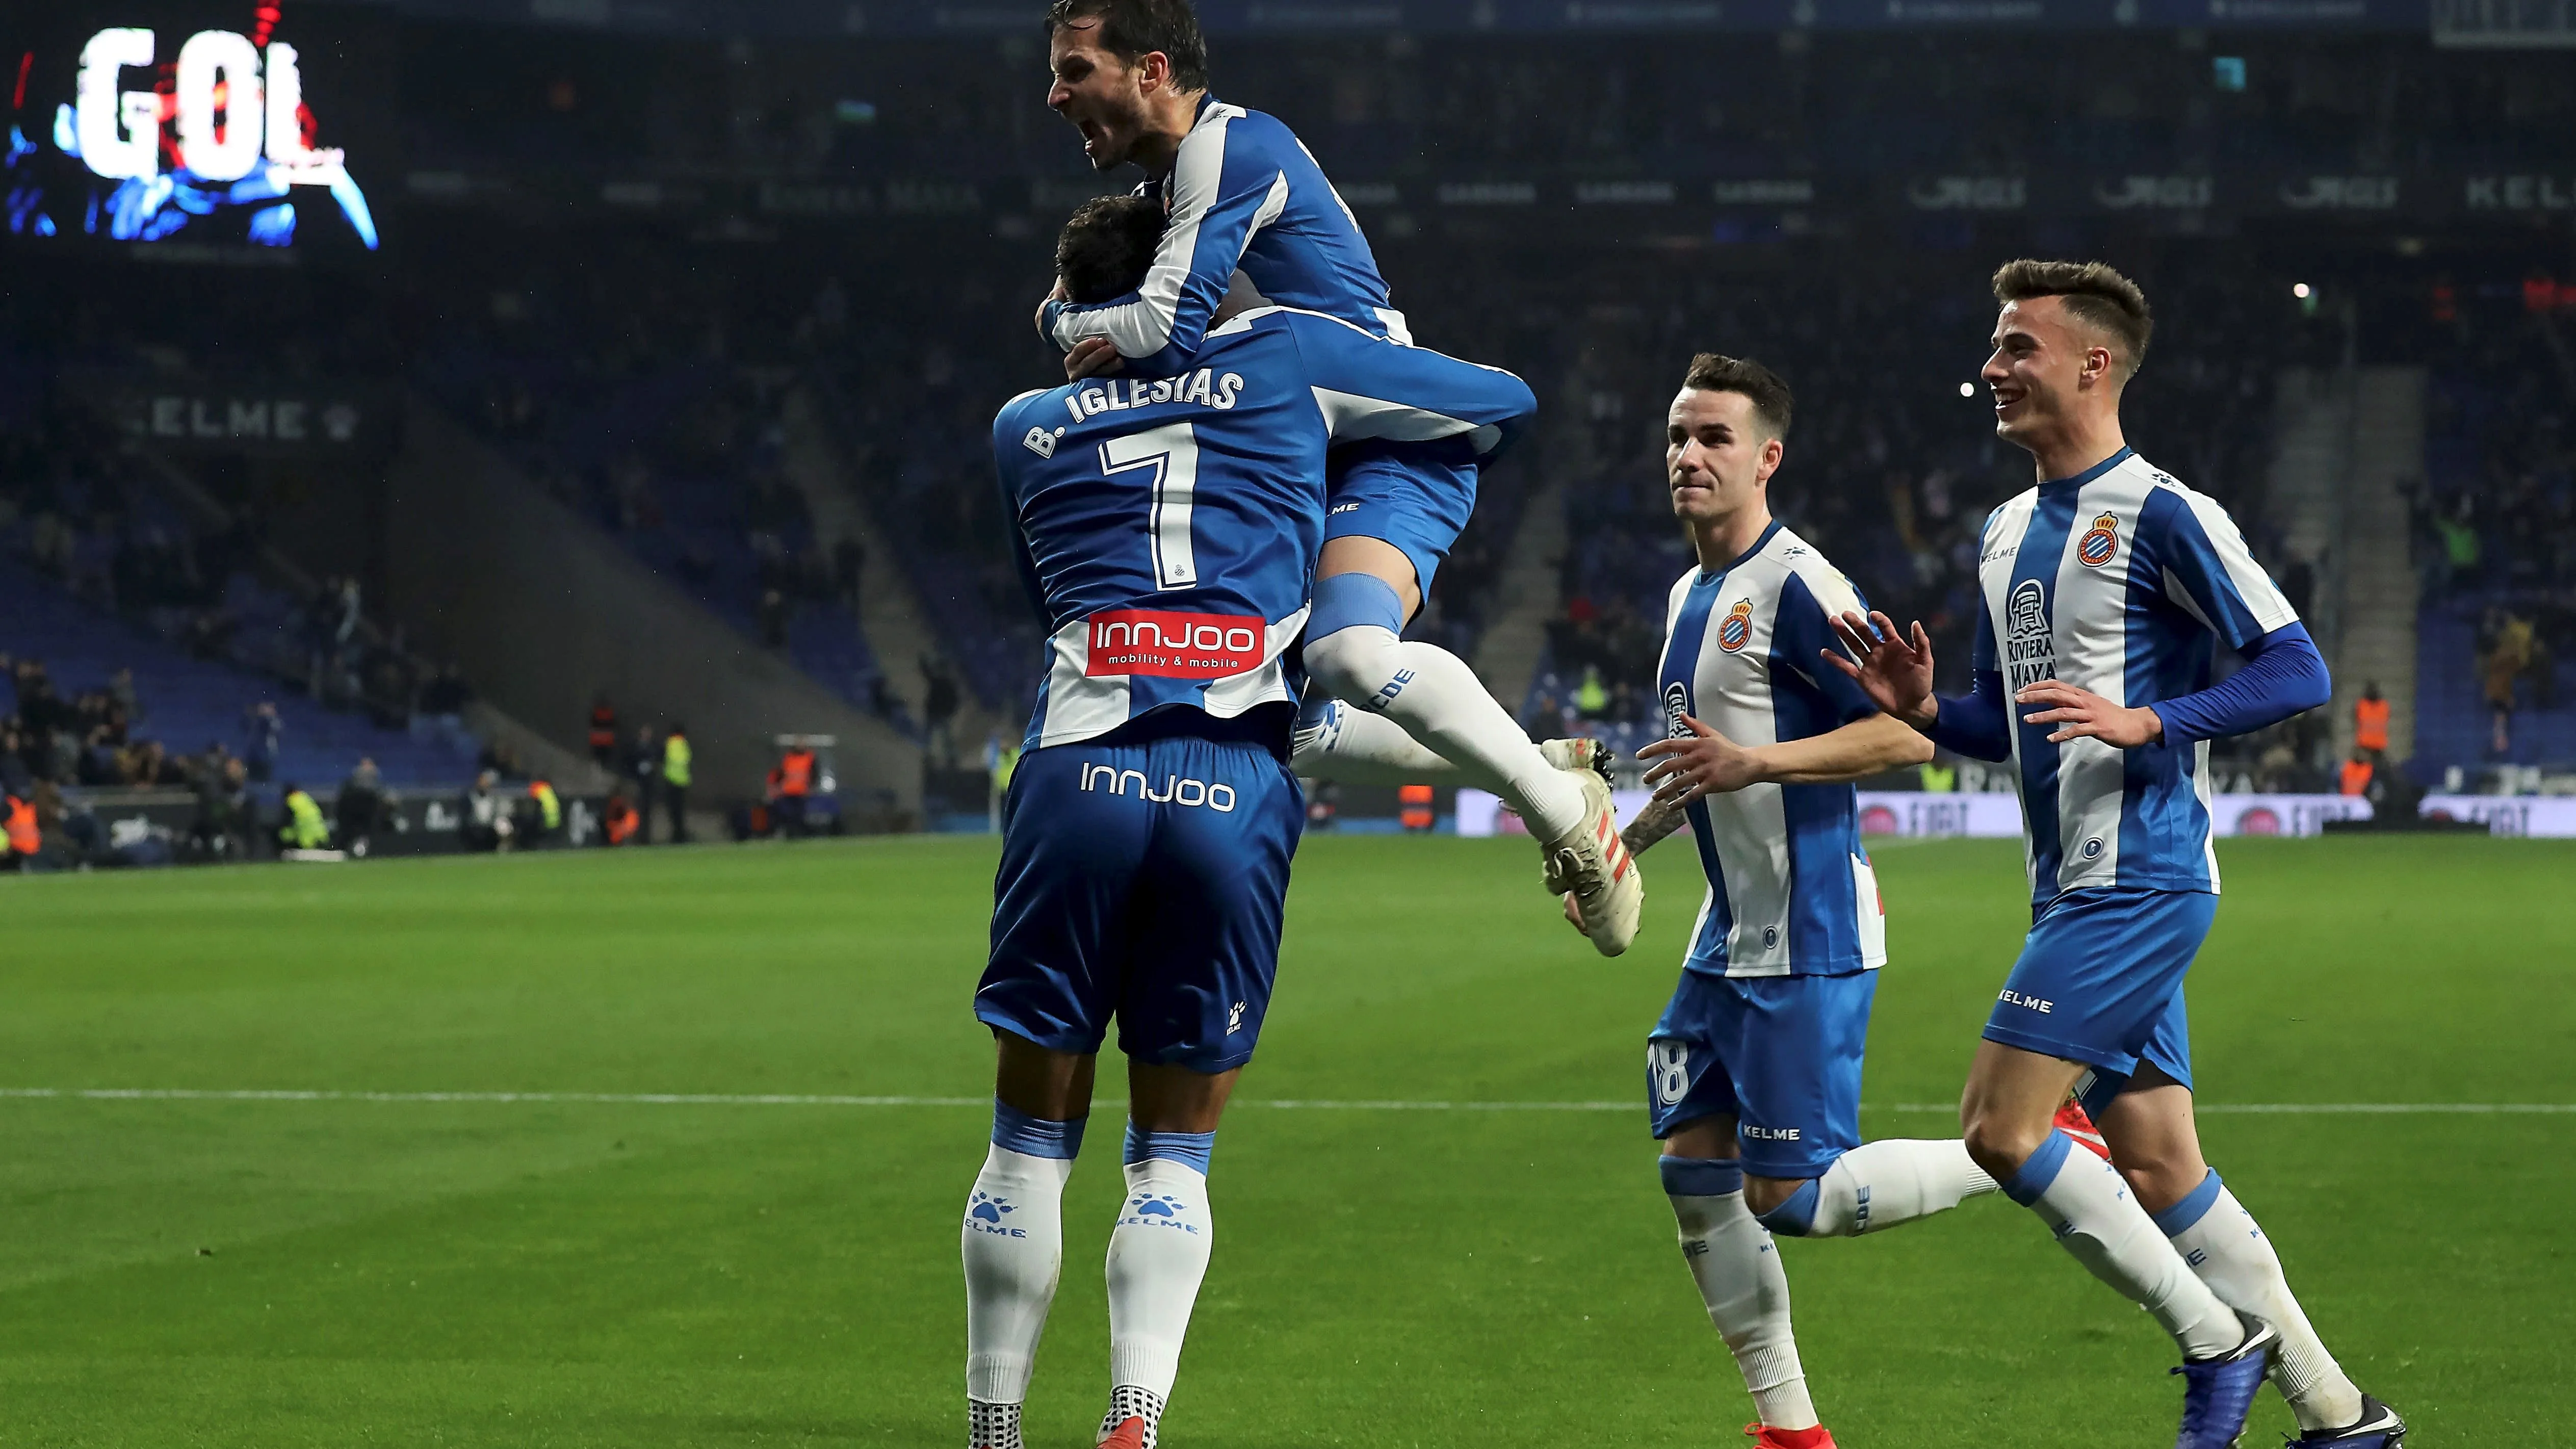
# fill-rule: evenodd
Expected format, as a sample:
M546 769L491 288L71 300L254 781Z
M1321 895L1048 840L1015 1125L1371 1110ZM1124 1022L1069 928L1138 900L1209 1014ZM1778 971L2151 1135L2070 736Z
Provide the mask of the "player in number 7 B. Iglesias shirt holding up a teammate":
M1066 294L1131 291L1159 237L1154 201L1087 204L1059 245ZM1208 1269L1208 1152L1270 1006L1303 822L1288 645L1306 627L1332 436L1492 454L1533 410L1507 371L1257 309L1170 376L1028 392L994 420L1048 665L1005 802L976 990L997 1073L961 1232L974 1449L1020 1446L1064 1181L1113 1016L1128 1191L1108 1253L1100 1444L1154 1444Z

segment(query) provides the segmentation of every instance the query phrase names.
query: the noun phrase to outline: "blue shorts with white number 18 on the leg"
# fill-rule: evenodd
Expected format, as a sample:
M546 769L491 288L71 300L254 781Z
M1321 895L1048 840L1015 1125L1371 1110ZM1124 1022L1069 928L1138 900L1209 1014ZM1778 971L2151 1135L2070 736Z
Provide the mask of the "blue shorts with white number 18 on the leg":
M1646 1039L1656 1140L1703 1116L1736 1119L1757 1178L1821 1178L1860 1147L1860 1052L1878 972L1713 977L1682 972Z

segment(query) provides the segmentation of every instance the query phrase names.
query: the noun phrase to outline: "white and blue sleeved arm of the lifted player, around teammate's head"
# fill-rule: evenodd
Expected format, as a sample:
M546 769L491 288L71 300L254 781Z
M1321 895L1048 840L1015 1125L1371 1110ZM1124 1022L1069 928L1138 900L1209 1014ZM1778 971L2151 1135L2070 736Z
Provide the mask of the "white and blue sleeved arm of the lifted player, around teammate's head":
M1283 157L1242 121L1244 113L1226 106L1182 137L1170 180L1172 217L1141 289L1095 304L1046 304L1046 335L1059 348L1108 338L1128 358L1131 376L1172 376L1190 364L1252 235L1288 206Z

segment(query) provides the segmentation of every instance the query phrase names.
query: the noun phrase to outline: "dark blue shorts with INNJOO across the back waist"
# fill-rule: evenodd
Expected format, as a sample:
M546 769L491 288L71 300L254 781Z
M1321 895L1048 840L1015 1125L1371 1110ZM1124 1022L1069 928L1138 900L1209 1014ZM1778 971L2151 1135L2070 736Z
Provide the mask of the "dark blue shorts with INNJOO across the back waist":
M1030 750L1002 804L974 1013L1092 1055L1229 1073L1270 1011L1306 797L1267 748L1162 737Z

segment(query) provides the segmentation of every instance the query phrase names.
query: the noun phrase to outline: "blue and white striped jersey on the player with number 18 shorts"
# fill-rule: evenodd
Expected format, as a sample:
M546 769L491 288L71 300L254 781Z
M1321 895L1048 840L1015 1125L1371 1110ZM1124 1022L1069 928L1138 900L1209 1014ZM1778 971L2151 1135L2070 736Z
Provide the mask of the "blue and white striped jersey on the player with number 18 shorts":
M1868 608L1824 554L1772 523L1718 572L1672 585L1664 627L1664 724L1682 714L1739 745L1826 735L1878 714L1819 657L1842 645L1829 619ZM1708 900L1682 969L1728 977L1832 977L1888 959L1878 871L1860 848L1847 784L1754 784L1690 807Z

